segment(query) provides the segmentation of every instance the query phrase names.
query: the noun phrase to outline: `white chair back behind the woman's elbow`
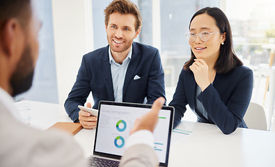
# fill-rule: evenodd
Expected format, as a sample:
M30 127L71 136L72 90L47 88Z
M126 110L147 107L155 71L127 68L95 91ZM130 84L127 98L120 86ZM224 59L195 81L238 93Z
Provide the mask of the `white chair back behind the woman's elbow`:
M249 129L267 130L267 118L265 110L260 104L250 102L244 115L244 122Z

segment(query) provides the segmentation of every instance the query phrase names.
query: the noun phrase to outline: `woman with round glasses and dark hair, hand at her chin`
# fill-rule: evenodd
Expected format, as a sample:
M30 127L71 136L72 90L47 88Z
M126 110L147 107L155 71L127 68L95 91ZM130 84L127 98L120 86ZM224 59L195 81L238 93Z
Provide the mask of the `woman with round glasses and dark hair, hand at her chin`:
M175 107L174 127L187 104L198 122L215 124L223 134L246 127L243 118L251 100L253 72L235 55L226 15L219 8L198 10L189 31L191 58L184 64L169 104Z

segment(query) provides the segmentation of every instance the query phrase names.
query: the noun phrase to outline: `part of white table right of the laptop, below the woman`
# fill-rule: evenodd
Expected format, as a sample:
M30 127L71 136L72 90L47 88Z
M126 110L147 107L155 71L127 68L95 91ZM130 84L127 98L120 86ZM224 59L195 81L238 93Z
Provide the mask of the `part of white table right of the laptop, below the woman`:
M169 166L275 166L275 133L238 128L223 134L216 125L181 122L193 131L171 145Z

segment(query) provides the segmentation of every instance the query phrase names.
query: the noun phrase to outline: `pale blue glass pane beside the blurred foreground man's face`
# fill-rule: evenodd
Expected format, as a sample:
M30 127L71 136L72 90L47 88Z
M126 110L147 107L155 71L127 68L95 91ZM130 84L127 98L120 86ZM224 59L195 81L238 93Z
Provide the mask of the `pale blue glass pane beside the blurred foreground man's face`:
M37 13L42 21L39 33L39 56L29 91L15 97L19 100L58 103L56 83L56 61L54 54L54 32L52 26L52 1L36 1Z

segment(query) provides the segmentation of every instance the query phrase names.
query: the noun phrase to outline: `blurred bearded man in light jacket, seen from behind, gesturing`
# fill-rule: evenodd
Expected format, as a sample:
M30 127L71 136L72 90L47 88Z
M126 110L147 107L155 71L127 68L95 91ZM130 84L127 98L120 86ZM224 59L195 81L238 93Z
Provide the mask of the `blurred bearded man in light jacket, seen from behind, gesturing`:
M12 96L31 87L40 27L33 1L0 0L0 166L88 166L72 136L43 132L17 120ZM152 137L158 111L164 102L160 97L151 112L136 120L131 136L140 136L141 132ZM141 147L144 150L140 150ZM120 166L157 164L156 154L147 144L134 143L125 152L127 156Z

